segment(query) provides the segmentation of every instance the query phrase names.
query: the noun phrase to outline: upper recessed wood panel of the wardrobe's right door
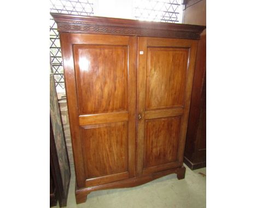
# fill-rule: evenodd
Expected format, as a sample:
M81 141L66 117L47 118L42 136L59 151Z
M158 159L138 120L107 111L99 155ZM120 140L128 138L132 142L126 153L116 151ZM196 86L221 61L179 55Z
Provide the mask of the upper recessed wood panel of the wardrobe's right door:
M147 50L146 110L183 107L189 48Z

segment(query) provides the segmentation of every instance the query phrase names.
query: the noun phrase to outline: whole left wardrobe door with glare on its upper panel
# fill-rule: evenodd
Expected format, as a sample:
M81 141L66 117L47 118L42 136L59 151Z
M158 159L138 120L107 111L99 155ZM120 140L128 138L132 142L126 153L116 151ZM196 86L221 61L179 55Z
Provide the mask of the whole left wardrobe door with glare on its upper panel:
M77 187L132 178L136 37L61 33Z

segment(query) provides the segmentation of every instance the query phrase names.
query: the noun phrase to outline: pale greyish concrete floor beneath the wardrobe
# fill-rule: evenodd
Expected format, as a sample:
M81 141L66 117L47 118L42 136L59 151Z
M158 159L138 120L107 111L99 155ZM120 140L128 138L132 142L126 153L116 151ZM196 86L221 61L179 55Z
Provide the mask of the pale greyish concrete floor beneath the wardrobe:
M185 164L184 164L185 166ZM74 167L71 167L67 207L206 207L206 168L190 170L185 166L185 179L178 180L176 174L164 176L133 188L108 189L91 192L85 203L75 203ZM59 205L54 208L59 208Z

